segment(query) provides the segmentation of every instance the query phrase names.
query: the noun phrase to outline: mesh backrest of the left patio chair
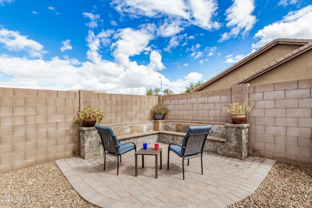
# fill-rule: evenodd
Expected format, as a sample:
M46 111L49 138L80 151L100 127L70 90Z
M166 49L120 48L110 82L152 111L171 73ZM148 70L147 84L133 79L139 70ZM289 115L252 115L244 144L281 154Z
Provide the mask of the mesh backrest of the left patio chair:
M96 129L100 135L104 150L114 154L118 153L119 147L117 146L119 145L119 141L112 128L96 126Z

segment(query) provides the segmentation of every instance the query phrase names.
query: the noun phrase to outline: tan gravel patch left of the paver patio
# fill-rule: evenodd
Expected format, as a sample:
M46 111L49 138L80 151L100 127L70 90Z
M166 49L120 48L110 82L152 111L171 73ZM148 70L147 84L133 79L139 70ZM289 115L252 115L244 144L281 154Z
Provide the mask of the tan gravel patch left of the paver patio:
M0 187L0 207L94 207L79 197L55 162L0 173Z

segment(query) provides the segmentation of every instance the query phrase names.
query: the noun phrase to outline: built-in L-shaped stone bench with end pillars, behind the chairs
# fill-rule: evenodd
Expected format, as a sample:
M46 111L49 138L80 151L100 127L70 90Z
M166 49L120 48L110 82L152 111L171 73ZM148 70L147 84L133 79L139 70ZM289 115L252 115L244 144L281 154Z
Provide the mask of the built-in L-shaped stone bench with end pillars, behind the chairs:
M190 126L211 125L213 128L207 136L204 151L244 159L248 154L249 124L234 125L230 123L155 120L145 122L103 125L113 129L120 142L142 143L182 143ZM80 127L80 155L85 159L103 153L97 130L94 127Z

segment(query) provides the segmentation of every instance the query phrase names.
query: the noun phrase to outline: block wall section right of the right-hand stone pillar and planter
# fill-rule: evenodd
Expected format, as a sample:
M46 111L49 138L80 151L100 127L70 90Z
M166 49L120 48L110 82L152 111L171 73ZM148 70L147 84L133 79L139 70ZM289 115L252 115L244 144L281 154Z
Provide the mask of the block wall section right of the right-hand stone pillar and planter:
M312 167L312 78L250 85L249 153Z

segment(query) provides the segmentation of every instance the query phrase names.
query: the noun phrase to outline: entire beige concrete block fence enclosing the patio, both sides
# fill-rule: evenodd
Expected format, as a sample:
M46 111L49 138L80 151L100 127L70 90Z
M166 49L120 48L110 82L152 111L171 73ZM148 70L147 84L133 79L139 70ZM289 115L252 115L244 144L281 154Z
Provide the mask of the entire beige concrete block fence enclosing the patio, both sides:
M224 105L247 101L249 154L312 167L312 78L166 96L0 88L0 172L77 156L85 106L105 112L101 125L154 120L165 104L166 120L231 122Z

